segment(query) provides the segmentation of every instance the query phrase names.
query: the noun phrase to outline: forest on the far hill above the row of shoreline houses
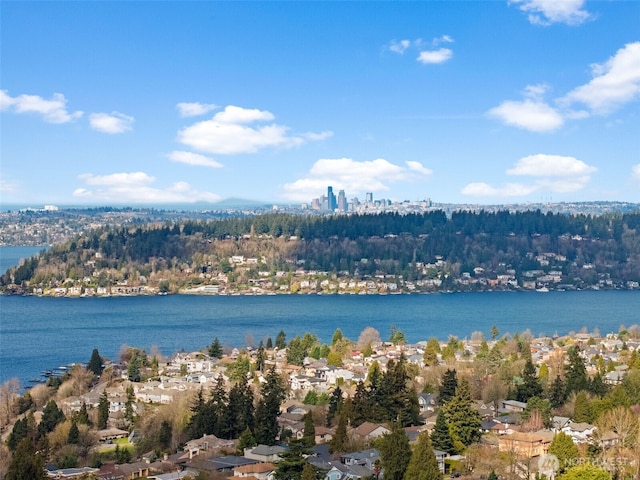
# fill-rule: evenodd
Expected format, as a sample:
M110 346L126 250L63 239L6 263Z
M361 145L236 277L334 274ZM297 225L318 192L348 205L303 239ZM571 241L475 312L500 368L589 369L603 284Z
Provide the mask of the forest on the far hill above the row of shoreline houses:
M488 276L541 268L539 256L566 258L565 276L640 280L640 212L603 216L552 212L443 211L400 215L266 214L213 221L101 227L55 245L0 277L0 287L64 281L99 270L141 275L189 266L228 273L232 255L255 270L295 269L350 276L429 275L416 265L440 260L452 278L481 267ZM585 265L587 266L585 268ZM553 265L551 266L553 267ZM547 268L548 270L548 268ZM583 271L584 270L584 271ZM588 270L588 271L587 271ZM572 273L573 272L573 273Z

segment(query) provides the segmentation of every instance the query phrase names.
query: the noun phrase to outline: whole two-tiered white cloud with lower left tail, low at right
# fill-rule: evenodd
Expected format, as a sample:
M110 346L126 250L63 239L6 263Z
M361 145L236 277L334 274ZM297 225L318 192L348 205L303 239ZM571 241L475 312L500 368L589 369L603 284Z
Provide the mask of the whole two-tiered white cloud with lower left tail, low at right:
M476 197L523 197L539 190L554 193L571 193L582 190L591 180L597 168L582 160L562 155L537 154L523 157L507 175L534 177L530 184L506 183L494 187L487 183L470 183L462 189L463 195Z

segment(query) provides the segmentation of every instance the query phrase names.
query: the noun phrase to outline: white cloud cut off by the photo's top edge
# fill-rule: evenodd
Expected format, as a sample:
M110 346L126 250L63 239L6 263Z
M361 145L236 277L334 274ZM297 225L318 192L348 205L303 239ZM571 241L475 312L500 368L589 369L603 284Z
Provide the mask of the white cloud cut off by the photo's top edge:
M580 25L591 18L582 8L584 0L510 0L509 3L519 5L534 25Z

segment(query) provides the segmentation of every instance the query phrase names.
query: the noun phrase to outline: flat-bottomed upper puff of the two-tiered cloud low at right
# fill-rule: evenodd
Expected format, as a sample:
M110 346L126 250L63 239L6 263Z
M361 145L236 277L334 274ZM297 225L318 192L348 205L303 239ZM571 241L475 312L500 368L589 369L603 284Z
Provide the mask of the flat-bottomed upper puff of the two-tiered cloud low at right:
M582 177L598 169L582 160L562 155L529 155L518 160L507 175L529 175L533 177Z

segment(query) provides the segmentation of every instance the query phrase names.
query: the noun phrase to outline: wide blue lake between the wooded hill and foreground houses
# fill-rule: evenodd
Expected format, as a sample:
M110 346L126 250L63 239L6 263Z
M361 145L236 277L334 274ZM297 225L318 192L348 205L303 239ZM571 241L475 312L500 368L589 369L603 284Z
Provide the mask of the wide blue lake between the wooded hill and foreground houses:
M0 382L23 386L43 370L87 362L93 348L117 358L122 344L156 345L165 355L193 351L218 337L223 345L256 346L284 330L329 343L336 328L357 340L367 326L383 339L392 325L409 342L448 335L489 337L529 329L560 335L598 328L617 332L640 323L640 291L489 292L431 295L276 295L110 298L0 296Z

